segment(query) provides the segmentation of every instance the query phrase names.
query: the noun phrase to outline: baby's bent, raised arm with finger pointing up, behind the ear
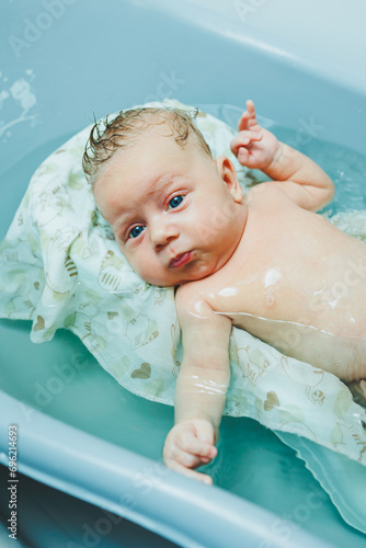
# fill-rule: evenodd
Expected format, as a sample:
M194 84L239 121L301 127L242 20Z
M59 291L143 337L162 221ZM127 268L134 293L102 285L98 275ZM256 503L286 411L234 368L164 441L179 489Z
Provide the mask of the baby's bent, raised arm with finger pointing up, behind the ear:
M231 150L240 163L263 171L305 209L321 209L333 199L332 180L310 158L278 141L271 132L261 127L253 101L247 101L247 111L238 129Z

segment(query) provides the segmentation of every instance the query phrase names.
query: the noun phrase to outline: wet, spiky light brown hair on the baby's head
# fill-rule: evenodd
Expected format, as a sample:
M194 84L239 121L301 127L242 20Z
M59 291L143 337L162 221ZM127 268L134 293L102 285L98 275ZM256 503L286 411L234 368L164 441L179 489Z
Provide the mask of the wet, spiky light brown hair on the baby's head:
M204 136L193 122L197 114L198 110L188 112L182 109L141 107L121 111L112 119L105 116L95 122L82 157L87 180L93 187L101 165L117 150L134 144L147 128L167 123L171 127L171 136L180 147L184 148L193 137L203 152L214 159Z

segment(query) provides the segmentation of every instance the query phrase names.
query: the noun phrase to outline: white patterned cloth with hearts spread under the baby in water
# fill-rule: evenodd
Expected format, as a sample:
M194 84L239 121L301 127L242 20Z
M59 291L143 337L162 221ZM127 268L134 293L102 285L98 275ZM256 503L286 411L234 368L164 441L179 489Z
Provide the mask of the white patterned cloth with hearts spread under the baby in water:
M251 174L229 149L236 132L203 112L196 124L213 153L233 161L248 190ZM87 127L50 155L31 180L0 247L0 316L33 320L37 343L57 329L71 330L123 387L172 406L182 359L174 292L137 276L98 212L81 168L89 133ZM365 212L331 220L366 240ZM340 379L237 328L230 362L225 414L251 416L366 464L366 412Z

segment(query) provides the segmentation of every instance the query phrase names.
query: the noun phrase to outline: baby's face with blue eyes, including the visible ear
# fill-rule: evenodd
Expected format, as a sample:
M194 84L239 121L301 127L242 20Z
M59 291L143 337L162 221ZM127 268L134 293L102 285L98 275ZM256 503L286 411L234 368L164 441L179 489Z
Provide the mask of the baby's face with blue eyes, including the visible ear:
M94 187L96 205L129 264L158 286L219 270L247 218L232 163L226 157L211 160L195 141L182 149L170 132L152 126L119 149Z

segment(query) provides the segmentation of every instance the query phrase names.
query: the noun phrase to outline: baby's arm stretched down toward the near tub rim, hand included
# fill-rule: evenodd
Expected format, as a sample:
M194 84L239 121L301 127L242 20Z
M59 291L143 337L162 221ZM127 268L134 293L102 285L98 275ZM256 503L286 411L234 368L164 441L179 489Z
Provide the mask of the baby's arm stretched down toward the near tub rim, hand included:
M194 296L191 284L178 289L175 306L182 329L183 361L175 388L175 425L167 436L167 466L211 483L194 471L217 454L215 443L230 383L231 320Z

